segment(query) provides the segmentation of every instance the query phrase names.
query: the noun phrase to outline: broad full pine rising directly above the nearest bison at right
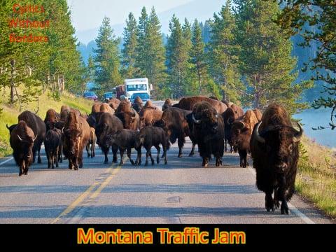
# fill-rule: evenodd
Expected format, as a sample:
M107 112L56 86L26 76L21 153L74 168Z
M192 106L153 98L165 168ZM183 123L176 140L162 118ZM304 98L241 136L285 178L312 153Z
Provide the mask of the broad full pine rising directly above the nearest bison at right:
M273 21L280 11L278 4L235 0L235 6L239 69L246 80L246 105L265 109L278 102L290 113L306 108L307 104L297 100L310 83L294 83L297 60L291 56L291 41Z

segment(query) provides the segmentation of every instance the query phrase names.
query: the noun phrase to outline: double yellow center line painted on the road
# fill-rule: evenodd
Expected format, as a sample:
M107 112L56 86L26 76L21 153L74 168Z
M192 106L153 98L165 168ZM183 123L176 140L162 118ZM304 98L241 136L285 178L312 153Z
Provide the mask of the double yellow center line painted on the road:
M110 174L110 175L106 179L104 179L104 181L94 182L92 184L92 186L90 186L89 188L87 188L87 190L85 190L84 193L82 193L74 202L72 202L69 205L69 207L67 207L62 212L62 214L59 214L59 216L57 216L57 218L55 218L55 220L52 221L52 223L50 223L50 224L57 223L62 217L64 217L67 214L71 213L71 211L73 211L73 209L75 209L76 207L78 207L78 205L80 203L82 203L87 197L90 197L90 199L96 198L99 195L99 193L101 193L102 190L104 188L106 188L106 186L111 182L111 180L113 179L113 177L120 171L120 169L121 169L120 166L116 167L116 169L113 169L113 168L107 169L106 172L104 172L104 174ZM97 188L98 186L99 186L99 188ZM97 190L94 191L94 188L97 188ZM92 193L92 191L93 191L93 193ZM92 195L90 195L90 193L92 193Z

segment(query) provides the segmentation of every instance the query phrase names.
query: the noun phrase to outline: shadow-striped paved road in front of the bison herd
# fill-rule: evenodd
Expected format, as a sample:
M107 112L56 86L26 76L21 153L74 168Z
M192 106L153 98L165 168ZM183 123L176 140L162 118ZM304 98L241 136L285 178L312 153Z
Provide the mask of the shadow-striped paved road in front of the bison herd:
M190 148L188 142L185 156ZM297 196L290 216L267 213L253 169L237 167L237 155L225 154L224 167L202 168L200 157L177 153L172 146L167 166L127 160L118 167L103 165L97 151L78 172L67 161L45 169L43 157L20 178L13 160L1 160L0 223L330 223Z

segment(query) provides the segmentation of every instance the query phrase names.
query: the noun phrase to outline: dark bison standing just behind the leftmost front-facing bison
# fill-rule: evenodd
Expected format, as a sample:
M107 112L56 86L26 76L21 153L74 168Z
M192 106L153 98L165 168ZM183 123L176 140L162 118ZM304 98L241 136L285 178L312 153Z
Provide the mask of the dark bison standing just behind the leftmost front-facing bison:
M36 151L38 152L38 164L41 164L41 145L43 144L44 138L45 138L45 123L43 120L37 116L35 113L32 113L30 111L25 111L18 116L18 121L25 121L27 123L27 126L31 128L31 130L34 132L34 135L37 136L36 140L34 141L33 146L33 163L35 162L36 157ZM12 125L11 127L7 127L8 130L11 132L11 129L13 129L16 125Z

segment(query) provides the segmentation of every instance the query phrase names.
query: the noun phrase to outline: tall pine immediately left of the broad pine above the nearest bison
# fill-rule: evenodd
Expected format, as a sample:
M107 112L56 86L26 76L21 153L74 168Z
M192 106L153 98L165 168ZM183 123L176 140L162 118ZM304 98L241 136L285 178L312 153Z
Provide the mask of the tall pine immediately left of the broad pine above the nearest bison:
M231 1L226 1L220 13L214 14L209 42L209 73L221 88L224 100L240 104L239 99L244 90L237 68L235 51L235 17L231 13Z

